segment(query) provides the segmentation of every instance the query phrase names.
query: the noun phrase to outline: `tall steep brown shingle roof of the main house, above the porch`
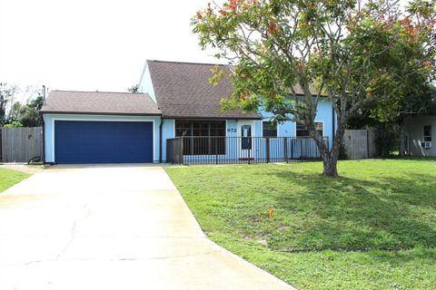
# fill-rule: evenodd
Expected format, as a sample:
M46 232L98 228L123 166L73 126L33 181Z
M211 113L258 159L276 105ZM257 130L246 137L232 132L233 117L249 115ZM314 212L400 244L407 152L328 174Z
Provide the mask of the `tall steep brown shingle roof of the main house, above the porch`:
M230 96L232 83L209 82L215 64L147 61L147 65L163 118L260 119L254 112L221 111L220 101Z

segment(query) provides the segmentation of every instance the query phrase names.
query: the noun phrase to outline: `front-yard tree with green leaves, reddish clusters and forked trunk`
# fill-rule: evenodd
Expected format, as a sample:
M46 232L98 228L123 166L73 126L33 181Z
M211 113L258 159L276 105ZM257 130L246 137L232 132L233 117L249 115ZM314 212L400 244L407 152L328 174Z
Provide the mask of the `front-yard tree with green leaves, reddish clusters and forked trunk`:
M263 106L274 121L302 122L320 150L324 175L336 176L350 116L369 102L395 103L411 92L407 86L434 73L435 2L415 0L401 9L390 0L229 0L199 11L193 32L203 49L235 65L223 109ZM324 98L338 119L332 147L314 123Z

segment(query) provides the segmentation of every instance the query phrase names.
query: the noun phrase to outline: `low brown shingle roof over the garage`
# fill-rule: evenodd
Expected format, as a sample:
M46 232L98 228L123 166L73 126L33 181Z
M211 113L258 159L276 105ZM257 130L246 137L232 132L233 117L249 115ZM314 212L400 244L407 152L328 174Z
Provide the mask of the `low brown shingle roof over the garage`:
M161 115L147 93L52 91L43 113Z

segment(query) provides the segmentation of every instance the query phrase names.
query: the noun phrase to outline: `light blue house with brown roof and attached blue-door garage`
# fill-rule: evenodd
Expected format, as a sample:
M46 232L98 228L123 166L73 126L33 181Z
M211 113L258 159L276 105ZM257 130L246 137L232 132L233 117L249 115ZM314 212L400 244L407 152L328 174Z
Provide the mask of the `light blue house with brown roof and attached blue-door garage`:
M213 67L147 61L140 93L52 91L41 110L45 162L165 162L167 140L179 137L190 139L189 148L184 149L190 157L242 159L243 154L249 154L248 159L254 159L251 151L265 149L252 140L261 142L266 137L272 140L271 146L274 140L298 137L303 150L302 140L307 140L308 132L295 122L273 126L269 122L272 115L262 108L257 113L223 112L220 101L230 95L232 84L223 80L213 86L209 82ZM331 144L334 113L327 98L320 102L315 121ZM277 144L276 150L287 150L279 150L282 145ZM296 151L297 142L285 144Z

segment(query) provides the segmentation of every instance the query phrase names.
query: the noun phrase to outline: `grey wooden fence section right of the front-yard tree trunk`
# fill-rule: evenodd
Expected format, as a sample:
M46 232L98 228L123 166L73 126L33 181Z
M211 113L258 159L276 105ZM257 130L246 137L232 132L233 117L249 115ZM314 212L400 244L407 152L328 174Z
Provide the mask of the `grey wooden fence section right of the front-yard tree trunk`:
M346 130L343 144L350 160L361 160L377 157L375 146L375 131Z

